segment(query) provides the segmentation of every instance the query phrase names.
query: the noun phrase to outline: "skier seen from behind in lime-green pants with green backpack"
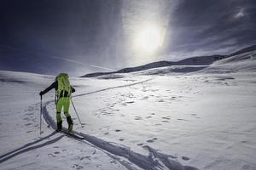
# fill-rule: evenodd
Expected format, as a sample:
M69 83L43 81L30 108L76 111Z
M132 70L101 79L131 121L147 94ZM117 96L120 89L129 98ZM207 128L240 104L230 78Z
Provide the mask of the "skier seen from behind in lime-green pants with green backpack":
M63 107L64 115L67 118L68 132L71 132L73 129L73 120L68 114L68 109L71 94L75 92L75 89L70 85L67 73L61 73L57 77L55 77L55 82L53 82L44 91L41 91L40 96L42 97L42 95L48 93L49 90L51 90L52 88L55 88L57 131L60 132L62 129L61 110Z

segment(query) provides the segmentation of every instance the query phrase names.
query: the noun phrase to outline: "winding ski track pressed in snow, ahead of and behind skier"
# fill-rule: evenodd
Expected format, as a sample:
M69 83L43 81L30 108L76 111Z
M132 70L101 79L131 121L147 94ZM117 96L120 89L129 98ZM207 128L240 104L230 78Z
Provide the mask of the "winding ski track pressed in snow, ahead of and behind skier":
M78 94L73 96L74 97L79 97L83 95L88 95L88 94L95 94L103 91L107 91L110 89L114 88L125 88L125 87L130 87L139 83L143 82L148 82L152 79L144 80L141 82L135 82L127 85L122 85L122 86L117 86L113 88L104 88L101 90L97 90L94 92L86 93L86 94ZM44 121L48 124L48 127L51 127L53 129L56 129L56 124L54 119L49 116L49 112L47 111L46 106L54 102L54 100L49 100L44 103L43 105L43 116L44 116ZM131 102L128 102L131 103ZM166 117L165 117L166 118ZM168 118L168 117L167 117ZM67 130L67 129L66 129ZM93 144L96 146L98 149L105 151L105 153L108 154L108 156L114 158L115 160L119 161L121 165L126 167L129 170L137 170L137 167L141 167L145 170L161 170L161 169L169 169L169 170L197 170L195 167L189 167L189 166L183 166L181 163L178 161L174 161L172 159L176 159L176 156L171 156L171 155L166 155L163 153L160 153L157 150L154 150L153 148L149 147L148 145L143 145L143 148L148 150L148 156L144 156L140 153L137 153L136 151L130 150L129 147L125 145L120 145L120 144L114 144L110 143L108 141L104 141L103 139L96 138L94 136L85 134L85 133L79 133L77 131L74 131L75 134L84 137L84 139L76 139L79 141L87 141L90 142L90 144ZM68 135L66 135L69 137ZM149 142L150 143L150 142ZM86 143L88 144L88 143ZM125 160L121 160L119 156L125 158ZM128 160L128 161L126 161ZM185 160L185 159L183 159ZM131 163L136 165L137 167L133 166Z

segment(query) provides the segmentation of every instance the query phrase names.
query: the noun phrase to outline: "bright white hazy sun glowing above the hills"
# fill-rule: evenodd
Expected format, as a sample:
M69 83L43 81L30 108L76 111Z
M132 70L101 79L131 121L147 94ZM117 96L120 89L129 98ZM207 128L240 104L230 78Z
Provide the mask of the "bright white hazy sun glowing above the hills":
M139 54L155 54L162 45L163 32L158 26L143 26L134 37L134 48Z

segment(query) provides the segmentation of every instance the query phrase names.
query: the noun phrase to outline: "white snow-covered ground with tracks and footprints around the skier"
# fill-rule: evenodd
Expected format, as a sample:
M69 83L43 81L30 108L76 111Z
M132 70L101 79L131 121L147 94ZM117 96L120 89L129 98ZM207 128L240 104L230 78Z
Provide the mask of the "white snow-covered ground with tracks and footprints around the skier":
M255 51L212 65L71 78L74 131L55 133L55 77L0 71L0 169L255 170ZM63 126L67 127L65 116Z

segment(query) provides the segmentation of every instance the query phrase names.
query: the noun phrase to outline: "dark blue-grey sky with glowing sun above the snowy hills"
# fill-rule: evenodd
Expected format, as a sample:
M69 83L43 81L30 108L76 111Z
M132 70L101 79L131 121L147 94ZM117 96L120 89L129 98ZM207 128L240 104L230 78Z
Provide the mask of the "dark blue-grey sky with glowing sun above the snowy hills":
M0 70L81 76L256 44L254 0L1 0Z

